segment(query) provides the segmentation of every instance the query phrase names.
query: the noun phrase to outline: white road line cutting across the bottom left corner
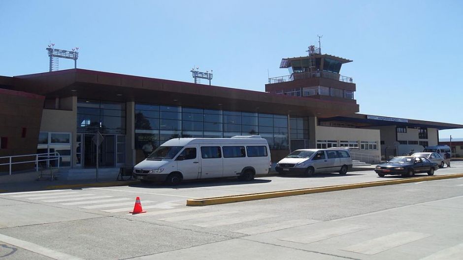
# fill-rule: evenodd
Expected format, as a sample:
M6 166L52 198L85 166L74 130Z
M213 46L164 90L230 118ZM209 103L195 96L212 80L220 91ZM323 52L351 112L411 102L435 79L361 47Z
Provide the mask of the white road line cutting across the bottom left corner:
M58 251L54 251L49 248L39 246L37 244L27 242L24 240L20 240L14 237L6 236L3 234L0 234L0 241L13 245L13 246L24 248L25 250L28 250L28 251L31 251L31 252L34 252L39 255L42 255L42 256L45 256L51 259L55 259L55 260L83 260L81 258L77 258L77 257L71 256L65 253L61 253Z

